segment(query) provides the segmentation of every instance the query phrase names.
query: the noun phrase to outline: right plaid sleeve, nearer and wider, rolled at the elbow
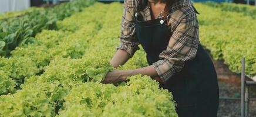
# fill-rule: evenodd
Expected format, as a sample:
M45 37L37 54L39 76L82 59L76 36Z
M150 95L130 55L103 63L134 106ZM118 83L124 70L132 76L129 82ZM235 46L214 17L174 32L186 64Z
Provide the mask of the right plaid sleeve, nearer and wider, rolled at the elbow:
M160 53L160 60L153 63L159 77L166 82L181 71L184 62L196 57L198 47L198 21L192 7L181 8L169 20L172 35L167 49Z

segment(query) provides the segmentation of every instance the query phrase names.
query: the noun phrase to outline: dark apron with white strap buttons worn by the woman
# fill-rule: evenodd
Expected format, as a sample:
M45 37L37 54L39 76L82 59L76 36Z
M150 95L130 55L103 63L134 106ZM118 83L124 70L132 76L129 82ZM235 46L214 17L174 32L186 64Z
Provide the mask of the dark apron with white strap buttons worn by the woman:
M171 32L166 18L143 21L136 16L136 36L147 54L149 65L160 60L159 54L166 50ZM218 82L213 63L198 44L193 60L185 61L183 69L173 75L160 87L169 90L176 102L176 112L180 117L217 116Z

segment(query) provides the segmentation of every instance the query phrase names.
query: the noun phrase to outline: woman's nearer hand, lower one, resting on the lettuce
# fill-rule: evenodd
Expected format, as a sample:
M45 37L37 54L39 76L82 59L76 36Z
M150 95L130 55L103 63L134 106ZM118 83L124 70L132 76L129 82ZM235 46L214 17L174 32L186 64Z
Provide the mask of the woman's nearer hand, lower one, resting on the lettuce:
M107 73L105 79L102 81L104 84L115 83L119 81L125 81L129 72L126 70L114 70Z

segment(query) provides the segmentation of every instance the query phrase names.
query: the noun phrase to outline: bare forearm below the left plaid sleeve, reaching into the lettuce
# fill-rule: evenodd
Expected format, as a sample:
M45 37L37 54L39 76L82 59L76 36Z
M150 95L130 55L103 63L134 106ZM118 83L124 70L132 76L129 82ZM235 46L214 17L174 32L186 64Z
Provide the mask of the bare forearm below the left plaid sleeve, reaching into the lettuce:
M116 53L114 54L112 60L110 60L110 63L114 68L118 66L122 66L124 63L126 63L127 60L130 59L130 54L127 53L124 50L118 49Z

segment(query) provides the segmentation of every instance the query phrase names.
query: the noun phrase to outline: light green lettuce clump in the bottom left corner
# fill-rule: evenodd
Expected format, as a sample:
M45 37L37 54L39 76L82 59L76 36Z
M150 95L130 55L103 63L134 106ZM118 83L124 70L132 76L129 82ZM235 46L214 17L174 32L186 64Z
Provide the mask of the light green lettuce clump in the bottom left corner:
M35 88L0 97L1 116L52 116L54 108L47 95Z

